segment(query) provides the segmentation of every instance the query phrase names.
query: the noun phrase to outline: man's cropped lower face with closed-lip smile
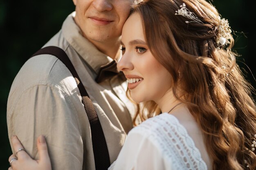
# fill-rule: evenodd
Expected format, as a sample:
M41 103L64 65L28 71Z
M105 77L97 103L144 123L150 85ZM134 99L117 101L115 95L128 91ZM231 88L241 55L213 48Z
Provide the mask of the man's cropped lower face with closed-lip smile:
M91 42L117 40L133 0L73 0L76 24Z

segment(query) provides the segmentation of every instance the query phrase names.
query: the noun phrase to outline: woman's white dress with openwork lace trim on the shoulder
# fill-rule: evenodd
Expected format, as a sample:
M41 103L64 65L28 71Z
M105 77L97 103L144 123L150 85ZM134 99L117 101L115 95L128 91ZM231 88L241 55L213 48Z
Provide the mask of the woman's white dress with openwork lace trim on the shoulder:
M184 126L162 113L128 133L108 170L207 170L207 165Z

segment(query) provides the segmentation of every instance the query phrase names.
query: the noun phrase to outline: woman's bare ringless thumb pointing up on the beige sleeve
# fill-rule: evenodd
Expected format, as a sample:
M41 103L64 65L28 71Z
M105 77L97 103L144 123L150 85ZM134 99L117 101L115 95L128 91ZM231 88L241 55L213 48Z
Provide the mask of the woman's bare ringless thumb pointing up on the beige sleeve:
M39 161L50 161L47 144L43 135L40 135L37 139L37 148L39 153Z

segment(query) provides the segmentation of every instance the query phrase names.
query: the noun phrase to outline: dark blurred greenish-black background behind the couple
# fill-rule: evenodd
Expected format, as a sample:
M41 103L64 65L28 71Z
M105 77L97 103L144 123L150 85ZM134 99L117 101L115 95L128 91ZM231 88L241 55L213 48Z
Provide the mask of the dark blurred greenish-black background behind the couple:
M89 1L89 0L88 0ZM253 1L251 1L253 2ZM256 87L255 40L252 27L256 7L247 0L214 0L218 11L237 32L234 49L242 57L238 64ZM11 83L25 61L60 29L63 20L74 10L72 0L1 0L0 1L0 170L9 167L11 155L7 135L6 107ZM247 68L250 68L251 72Z

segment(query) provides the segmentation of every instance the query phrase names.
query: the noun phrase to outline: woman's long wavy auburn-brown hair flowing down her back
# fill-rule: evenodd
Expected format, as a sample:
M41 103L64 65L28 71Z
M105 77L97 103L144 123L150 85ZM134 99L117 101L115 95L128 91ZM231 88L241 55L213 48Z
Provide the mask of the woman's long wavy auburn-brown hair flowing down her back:
M186 23L188 18L175 15L183 3L202 23ZM233 37L222 48L216 43L218 11L205 0L144 0L132 7L134 12L141 15L150 51L171 73L174 96L186 103L204 132L213 170L247 165L254 170L254 90L236 64ZM134 124L160 113L153 101L137 106Z

